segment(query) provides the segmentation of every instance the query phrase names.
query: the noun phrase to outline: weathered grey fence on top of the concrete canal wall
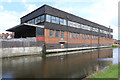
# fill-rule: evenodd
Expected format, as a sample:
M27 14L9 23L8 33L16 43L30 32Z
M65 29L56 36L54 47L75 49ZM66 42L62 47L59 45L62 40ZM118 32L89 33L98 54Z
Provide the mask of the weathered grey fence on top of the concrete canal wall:
M0 48L38 47L42 44L43 42L37 42L36 38L0 39Z

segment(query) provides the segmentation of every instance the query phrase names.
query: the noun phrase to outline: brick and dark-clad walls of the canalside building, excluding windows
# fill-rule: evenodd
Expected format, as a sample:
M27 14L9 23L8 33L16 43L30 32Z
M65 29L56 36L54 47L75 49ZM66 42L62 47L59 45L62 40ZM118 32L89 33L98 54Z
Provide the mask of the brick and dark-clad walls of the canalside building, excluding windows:
M44 15L44 20L39 23L35 23L36 18L39 18ZM54 22L47 22L46 21L46 15L50 15L51 17L59 18L59 23ZM60 24L60 19L64 19L66 21L66 25ZM82 47L82 46L105 46L110 45L113 43L112 37L113 35L109 34L113 32L113 29L107 28L103 25L97 24L95 22L86 20L84 18L78 17L76 15L67 13L65 11L56 9L54 7L43 5L42 7L36 9L35 11L23 16L21 18L21 23L28 23L29 21L33 21L33 24L36 25L44 25L44 38L42 40L45 40L46 46L48 48L60 48L59 41L61 40L61 37L55 37L56 30L64 31L64 41L67 41L65 43L65 47ZM51 19L52 21L52 19ZM69 26L68 22L72 21L74 23L79 23L82 25L90 26L91 28L97 28L98 32L92 31L92 30L85 30L82 28L77 28L73 26ZM50 37L50 29L54 30L54 37ZM109 33L100 33L100 30L107 31ZM79 38L70 38L70 32L77 33L79 35ZM83 39L82 36L89 35L89 39ZM99 39L92 39L93 36L99 36ZM41 36L39 36L41 38ZM41 39L39 39L41 40Z

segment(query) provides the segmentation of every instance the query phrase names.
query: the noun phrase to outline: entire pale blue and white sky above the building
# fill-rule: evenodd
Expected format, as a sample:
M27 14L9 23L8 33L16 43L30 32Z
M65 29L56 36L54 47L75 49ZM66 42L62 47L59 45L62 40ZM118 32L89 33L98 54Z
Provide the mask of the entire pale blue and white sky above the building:
M92 22L111 27L118 39L119 0L0 0L0 33L20 24L20 18L47 4Z

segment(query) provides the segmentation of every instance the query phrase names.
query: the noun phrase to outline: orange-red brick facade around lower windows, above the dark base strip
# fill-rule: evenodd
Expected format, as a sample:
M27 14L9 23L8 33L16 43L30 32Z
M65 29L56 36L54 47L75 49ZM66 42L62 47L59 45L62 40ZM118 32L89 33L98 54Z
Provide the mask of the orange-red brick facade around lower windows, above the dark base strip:
M55 37L55 32L56 30L54 30L54 37L50 37L50 30L49 29L45 29L45 43L57 43L59 44L59 41L61 39L61 37ZM108 44L113 44L113 39L111 38L105 38L105 37L99 37L99 40L96 39L92 39L92 35L90 35L89 39L87 39L87 35L85 35L85 39L82 38L83 34L78 34L79 38L70 38L70 32L64 32L64 40L67 41L67 43L99 43L99 44L104 44L104 43L108 43Z

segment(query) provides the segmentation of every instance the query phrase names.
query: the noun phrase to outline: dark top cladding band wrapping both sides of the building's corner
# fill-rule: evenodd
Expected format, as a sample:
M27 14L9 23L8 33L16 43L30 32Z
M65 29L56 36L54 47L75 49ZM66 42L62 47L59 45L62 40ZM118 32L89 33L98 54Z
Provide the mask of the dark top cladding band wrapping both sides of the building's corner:
M91 22L89 20L86 20L86 19L83 19L81 17L75 16L73 14L61 11L59 9L53 8L53 7L48 6L48 5L43 5L40 8L34 10L33 12L23 16L21 18L21 23L25 23L28 20L33 19L33 18L38 17L38 16L43 15L43 14L49 14L49 15L64 18L66 20L70 20L70 21L73 21L73 22L77 22L77 23L81 23L81 24L87 24L87 25L95 27L95 28L99 28L99 29L102 29L102 30L105 30L105 31L113 32L113 29L107 28L103 25Z

